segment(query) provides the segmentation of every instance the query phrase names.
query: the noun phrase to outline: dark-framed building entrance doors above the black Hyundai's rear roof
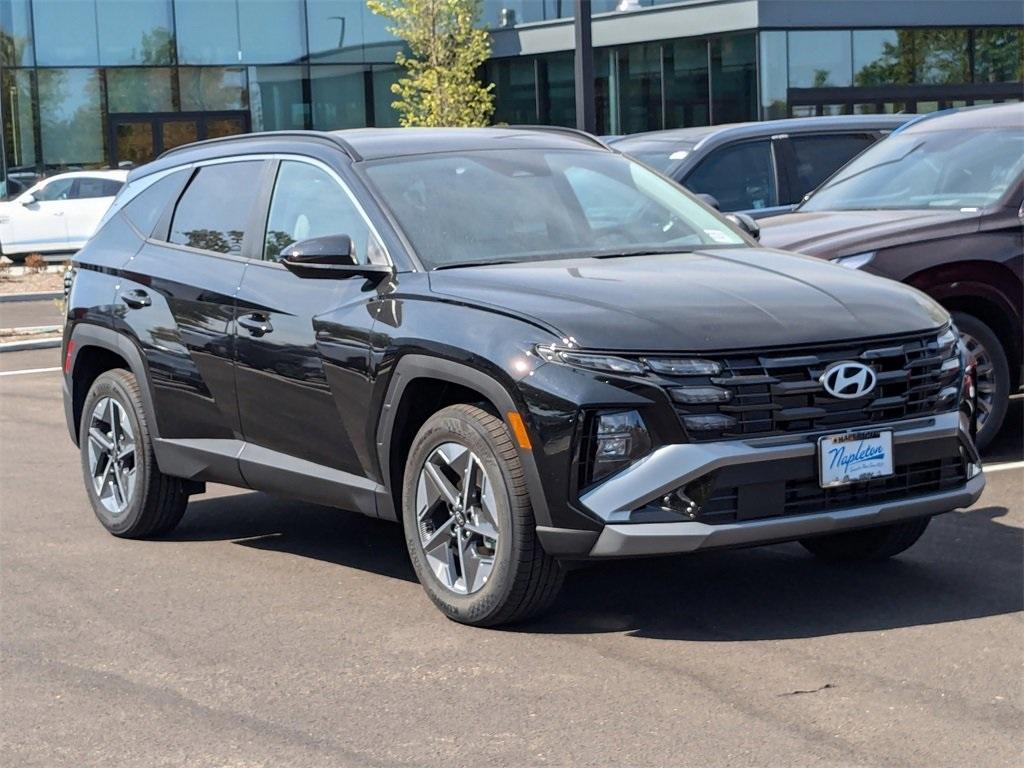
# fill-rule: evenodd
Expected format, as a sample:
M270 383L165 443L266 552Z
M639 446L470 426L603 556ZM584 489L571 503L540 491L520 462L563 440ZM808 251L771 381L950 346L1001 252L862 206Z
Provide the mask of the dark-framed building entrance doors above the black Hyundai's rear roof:
M190 141L249 130L247 112L175 112L110 116L111 164L148 163L161 153Z

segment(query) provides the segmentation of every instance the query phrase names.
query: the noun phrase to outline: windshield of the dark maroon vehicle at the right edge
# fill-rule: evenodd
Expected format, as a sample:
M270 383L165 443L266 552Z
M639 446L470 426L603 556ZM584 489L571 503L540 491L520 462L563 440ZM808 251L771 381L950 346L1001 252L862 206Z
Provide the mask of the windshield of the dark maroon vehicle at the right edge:
M984 208L1022 169L1019 129L897 133L843 168L800 210Z

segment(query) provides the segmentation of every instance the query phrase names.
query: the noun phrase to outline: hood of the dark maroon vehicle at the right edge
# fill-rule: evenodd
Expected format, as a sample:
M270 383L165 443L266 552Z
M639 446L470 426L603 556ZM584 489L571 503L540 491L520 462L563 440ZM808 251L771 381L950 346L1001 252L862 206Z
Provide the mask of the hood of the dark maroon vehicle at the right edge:
M760 219L761 244L833 259L978 229L977 212L808 211Z

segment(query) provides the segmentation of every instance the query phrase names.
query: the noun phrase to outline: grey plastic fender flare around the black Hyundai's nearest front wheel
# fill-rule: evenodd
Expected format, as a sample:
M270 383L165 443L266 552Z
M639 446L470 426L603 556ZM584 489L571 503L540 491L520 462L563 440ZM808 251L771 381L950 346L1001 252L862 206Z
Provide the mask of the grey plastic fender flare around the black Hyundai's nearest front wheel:
M431 357L426 354L407 354L399 358L391 375L380 421L377 425L377 460L381 468L381 479L389 492L383 495L380 517L399 520L398 510L394 508L394 497L391 488L391 438L394 432L394 422L398 414L398 403L401 402L406 388L417 379L439 379L452 384L459 384L475 389L498 409L503 415L511 412L521 413L511 393L496 379L469 366L442 357ZM537 461L531 451L519 450L519 461L522 462L526 477L526 488L529 492L530 503L534 506L534 517L538 525L550 525L551 514L548 511L547 497L541 483L541 475Z

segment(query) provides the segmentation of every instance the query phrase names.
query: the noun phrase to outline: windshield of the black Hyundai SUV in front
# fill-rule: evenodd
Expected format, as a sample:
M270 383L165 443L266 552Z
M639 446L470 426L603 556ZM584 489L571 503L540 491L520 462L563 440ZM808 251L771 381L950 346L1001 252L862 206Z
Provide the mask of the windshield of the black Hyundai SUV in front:
M716 214L638 163L513 150L367 164L427 268L743 246Z

